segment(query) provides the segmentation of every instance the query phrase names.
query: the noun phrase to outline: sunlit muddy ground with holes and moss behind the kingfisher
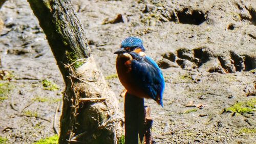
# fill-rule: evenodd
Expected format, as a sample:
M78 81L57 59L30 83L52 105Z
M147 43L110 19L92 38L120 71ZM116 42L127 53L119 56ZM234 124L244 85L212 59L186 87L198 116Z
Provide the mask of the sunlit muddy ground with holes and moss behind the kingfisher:
M256 143L255 0L72 2L121 108L113 52L122 39L140 37L162 68L164 108L146 100L156 143ZM0 138L53 136L65 85L46 36L24 0L7 1L0 18Z

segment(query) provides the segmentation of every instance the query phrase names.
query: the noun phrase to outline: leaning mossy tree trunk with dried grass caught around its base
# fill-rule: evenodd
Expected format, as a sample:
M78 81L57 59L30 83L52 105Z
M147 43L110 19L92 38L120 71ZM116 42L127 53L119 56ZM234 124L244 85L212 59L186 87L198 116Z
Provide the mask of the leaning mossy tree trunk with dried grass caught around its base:
M90 55L87 38L71 2L28 2L66 83L59 143L116 143L123 131L123 116L114 93Z

